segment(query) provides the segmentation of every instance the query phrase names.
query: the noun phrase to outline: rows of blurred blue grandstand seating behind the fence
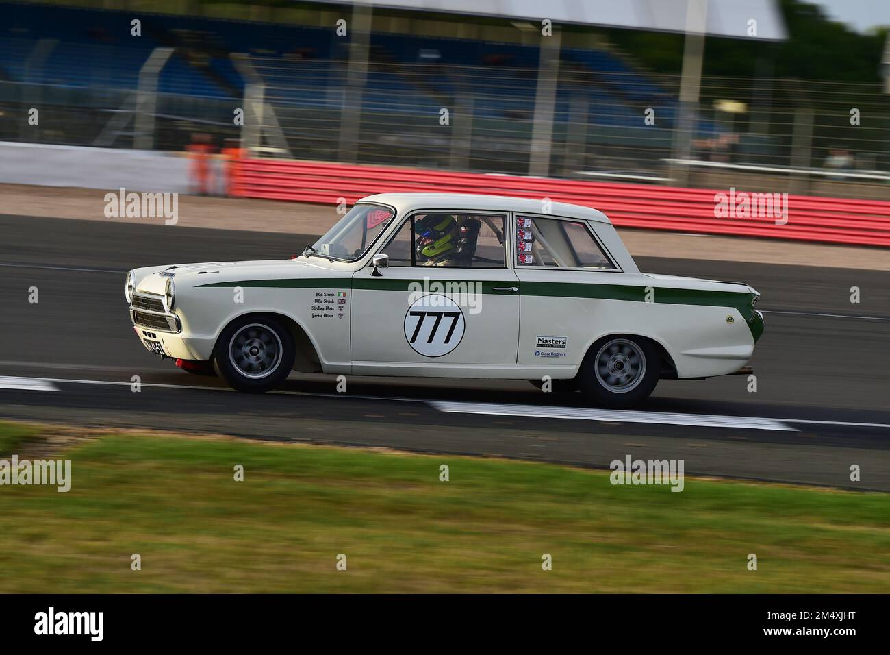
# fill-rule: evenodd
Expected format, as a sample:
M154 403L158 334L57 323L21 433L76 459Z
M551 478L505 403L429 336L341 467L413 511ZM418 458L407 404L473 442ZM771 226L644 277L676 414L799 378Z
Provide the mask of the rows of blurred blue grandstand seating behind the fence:
M76 100L82 111L91 106L117 110L119 107L96 105L108 104L112 98L124 106L125 92L136 90L139 71L150 53L158 47L172 47L174 56L158 78L161 132L165 125L167 131L160 135L158 145L181 149L189 129L170 134L171 121L164 118L192 123L193 117L185 112L189 107L200 107L204 127L216 124L214 131L221 138L235 135L226 126L229 112L223 111L221 101L226 107L240 102L245 79L233 66L230 54L247 53L255 61L276 111L282 114L292 153L308 157L334 154L333 134L328 143L309 143L319 142L318 135L327 133L320 121L326 114L329 119L328 112L338 111L343 102L346 44L331 28L252 23L250 29L244 29L243 23L231 20L150 14L140 15L142 36L131 37L133 12L61 6L50 11L39 4L0 4L0 11L11 17L0 33L0 81L45 86L44 97L58 102ZM50 44L48 56L39 65L28 65L41 40ZM473 99L478 138L496 149L500 143L507 155L495 154L479 164L505 172L522 169L524 164L512 166L510 160L516 160L516 142L527 140L530 132L538 45L375 32L370 35L370 53L362 114L371 135L375 128L380 132L405 121L410 125L412 117L437 116L442 107L454 107L457 98L469 97ZM567 129L572 102L584 103L592 126L633 131L639 127L644 105L659 112L665 130L672 127L675 96L619 55L563 48L562 66L554 107L557 134ZM10 88L5 88L5 99L9 100ZM90 144L101 130L101 117L91 123L86 129L72 126L60 134L64 132L60 127L53 133L64 143ZM328 130L335 128L328 126ZM127 138L130 135L121 136L115 145L132 145L132 139ZM402 146L413 142L416 155L422 155L423 143L436 148L434 138L400 138L392 133L376 135L363 148L387 142ZM399 157L384 160L403 163Z

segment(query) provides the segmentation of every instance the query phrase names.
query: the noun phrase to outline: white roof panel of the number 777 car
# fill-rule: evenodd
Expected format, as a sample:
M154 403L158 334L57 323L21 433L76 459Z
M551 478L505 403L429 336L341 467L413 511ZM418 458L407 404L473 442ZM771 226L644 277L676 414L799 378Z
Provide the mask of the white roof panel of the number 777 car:
M530 214L544 214L543 199L513 198L501 195L481 195L477 193L376 193L362 198L359 202L380 202L392 205L400 214L419 209L460 209L469 211L518 211ZM565 202L550 203L548 214L554 216L580 218L597 223L611 221L602 211Z

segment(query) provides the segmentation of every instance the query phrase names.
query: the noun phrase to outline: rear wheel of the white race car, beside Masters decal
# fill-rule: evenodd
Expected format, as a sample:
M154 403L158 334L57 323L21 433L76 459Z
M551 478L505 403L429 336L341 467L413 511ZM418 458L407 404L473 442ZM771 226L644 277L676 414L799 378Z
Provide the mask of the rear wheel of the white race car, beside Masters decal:
M620 409L649 397L660 372L659 351L650 340L613 336L587 351L578 379L592 404Z

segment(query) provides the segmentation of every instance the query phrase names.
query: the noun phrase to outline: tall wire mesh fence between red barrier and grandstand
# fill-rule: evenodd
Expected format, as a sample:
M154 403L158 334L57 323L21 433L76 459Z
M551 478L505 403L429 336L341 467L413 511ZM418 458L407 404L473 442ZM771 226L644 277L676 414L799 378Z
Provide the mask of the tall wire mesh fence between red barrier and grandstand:
M877 84L702 78L692 153L677 160L679 76L561 61L548 78L372 54L357 83L346 61L235 56L243 97L210 97L184 84L158 86L164 53L118 49L116 62L81 52L77 76L66 77L49 70L41 47L52 50L0 42L34 80L0 81L2 140L182 150L204 132L218 145L242 138L263 157L525 175L535 172L543 116L549 176L671 184L679 166L692 171L693 185L753 180L862 197L886 197L890 181L890 107ZM554 86L543 113L542 84ZM30 109L39 110L39 125L28 123ZM238 109L243 127L233 121Z

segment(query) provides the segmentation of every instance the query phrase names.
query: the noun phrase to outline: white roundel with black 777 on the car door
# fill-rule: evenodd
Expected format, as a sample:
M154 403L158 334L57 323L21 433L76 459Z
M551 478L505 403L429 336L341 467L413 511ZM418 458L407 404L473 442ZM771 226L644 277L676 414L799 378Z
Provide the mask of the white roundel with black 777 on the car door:
M405 314L405 340L425 357L441 357L464 338L464 312L448 296L433 293L417 299Z

